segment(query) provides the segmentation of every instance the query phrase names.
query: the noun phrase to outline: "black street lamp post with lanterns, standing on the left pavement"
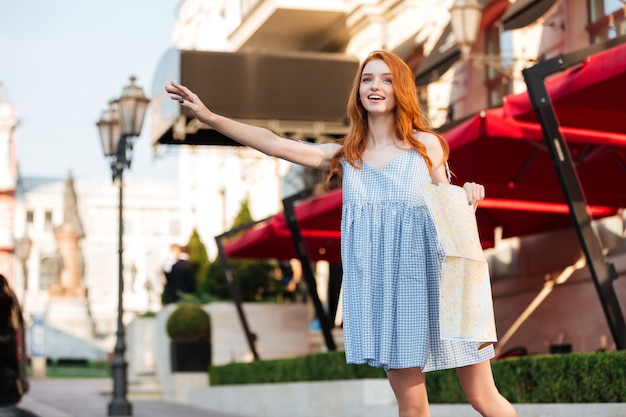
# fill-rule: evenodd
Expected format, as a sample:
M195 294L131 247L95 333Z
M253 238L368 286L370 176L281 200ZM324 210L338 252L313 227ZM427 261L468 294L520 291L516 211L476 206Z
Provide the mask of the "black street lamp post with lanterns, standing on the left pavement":
M109 158L113 181L117 179L119 185L117 341L111 363L113 398L109 403L110 416L132 415L132 405L126 399L128 364L124 358L124 169L130 168L132 139L141 134L148 102L143 90L135 85L135 77L130 77L130 85L124 87L119 99L109 102L109 108L97 123L104 156Z

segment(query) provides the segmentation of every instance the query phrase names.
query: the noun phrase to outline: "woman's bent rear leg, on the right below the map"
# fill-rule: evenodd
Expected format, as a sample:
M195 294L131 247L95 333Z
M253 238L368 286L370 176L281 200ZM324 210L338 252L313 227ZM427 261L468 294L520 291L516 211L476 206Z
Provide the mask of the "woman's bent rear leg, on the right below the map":
M517 417L511 403L498 391L488 360L456 371L467 400L483 417Z

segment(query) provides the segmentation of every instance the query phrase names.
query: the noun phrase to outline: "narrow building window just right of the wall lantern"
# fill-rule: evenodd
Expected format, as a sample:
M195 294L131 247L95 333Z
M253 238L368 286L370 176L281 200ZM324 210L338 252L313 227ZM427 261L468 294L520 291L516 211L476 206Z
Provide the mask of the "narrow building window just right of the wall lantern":
M485 52L493 59L487 65L486 85L489 107L502 105L504 96L511 93L510 77L513 69L513 39L510 31L501 25L490 25L486 32Z

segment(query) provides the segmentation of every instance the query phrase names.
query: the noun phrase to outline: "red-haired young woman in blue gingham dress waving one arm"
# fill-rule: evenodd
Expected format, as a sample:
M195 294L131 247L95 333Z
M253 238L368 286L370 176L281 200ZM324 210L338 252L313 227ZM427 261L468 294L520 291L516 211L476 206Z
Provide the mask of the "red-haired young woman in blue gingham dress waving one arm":
M188 88L166 91L199 121L267 155L329 171L342 184L343 316L348 363L382 367L401 417L430 416L425 372L457 368L468 401L483 416L513 417L498 392L493 347L439 336L444 254L421 184L448 184L448 145L422 121L413 73L397 56L374 51L348 101L350 131L335 143L281 138L211 112ZM485 196L466 183L468 204Z

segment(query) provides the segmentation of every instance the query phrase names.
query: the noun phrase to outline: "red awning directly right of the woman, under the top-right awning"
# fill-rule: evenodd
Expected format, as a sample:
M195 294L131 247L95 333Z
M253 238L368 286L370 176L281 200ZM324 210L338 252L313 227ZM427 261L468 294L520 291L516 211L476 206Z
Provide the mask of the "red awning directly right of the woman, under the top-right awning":
M491 109L443 134L454 182L485 185L488 198L476 212L483 247L494 244L496 227L512 237L572 224L539 124ZM576 161L590 216L626 207L626 135L568 127L561 134Z

